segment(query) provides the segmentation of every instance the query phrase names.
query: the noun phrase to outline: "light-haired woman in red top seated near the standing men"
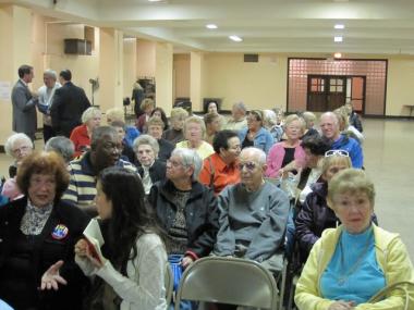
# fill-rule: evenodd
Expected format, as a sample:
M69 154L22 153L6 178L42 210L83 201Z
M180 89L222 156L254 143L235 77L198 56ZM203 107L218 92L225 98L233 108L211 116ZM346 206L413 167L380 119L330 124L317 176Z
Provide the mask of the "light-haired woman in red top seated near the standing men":
M70 139L75 146L74 157L78 157L90 149L92 132L99 127L102 112L98 108L90 107L82 114L82 125L73 128Z

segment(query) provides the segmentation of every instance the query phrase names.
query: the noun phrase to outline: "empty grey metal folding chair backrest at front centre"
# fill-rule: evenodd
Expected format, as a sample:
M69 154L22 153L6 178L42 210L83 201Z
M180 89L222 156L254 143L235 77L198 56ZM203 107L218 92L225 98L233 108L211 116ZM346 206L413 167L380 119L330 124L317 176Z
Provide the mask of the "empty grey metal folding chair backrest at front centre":
M175 310L180 309L181 300L277 309L278 288L272 274L255 261L207 257L184 271L176 293Z

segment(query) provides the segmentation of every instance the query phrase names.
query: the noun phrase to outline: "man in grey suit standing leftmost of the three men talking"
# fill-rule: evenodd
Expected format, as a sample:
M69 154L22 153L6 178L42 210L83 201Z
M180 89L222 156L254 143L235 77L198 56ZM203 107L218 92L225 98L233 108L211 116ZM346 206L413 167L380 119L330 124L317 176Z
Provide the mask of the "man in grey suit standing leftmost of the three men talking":
M34 77L33 66L21 65L19 67L20 79L12 90L12 104L13 104L13 127L16 133L26 134L32 140L35 140L35 133L37 127L36 114L36 96L28 89L28 84L32 83Z

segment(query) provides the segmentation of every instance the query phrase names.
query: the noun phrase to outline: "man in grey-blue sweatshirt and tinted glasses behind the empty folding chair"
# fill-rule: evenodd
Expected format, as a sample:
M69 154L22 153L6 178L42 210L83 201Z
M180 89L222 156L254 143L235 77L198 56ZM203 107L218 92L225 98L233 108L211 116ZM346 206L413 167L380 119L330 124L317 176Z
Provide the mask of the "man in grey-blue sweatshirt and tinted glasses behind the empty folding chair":
M215 255L260 262L277 273L283 268L289 199L264 181L266 154L245 148L240 154L241 183L219 195L219 225Z

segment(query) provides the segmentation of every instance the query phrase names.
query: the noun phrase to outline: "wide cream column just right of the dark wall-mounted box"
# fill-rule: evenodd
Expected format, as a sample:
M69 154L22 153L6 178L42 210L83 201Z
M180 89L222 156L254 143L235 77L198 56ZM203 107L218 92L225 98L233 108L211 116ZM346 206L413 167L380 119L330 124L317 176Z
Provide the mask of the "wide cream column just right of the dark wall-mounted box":
M100 28L99 90L95 104L101 111L122 108L123 100L123 33Z

